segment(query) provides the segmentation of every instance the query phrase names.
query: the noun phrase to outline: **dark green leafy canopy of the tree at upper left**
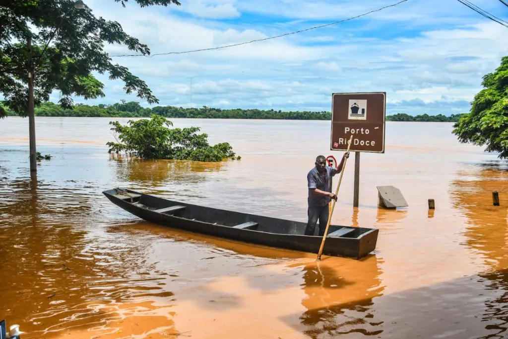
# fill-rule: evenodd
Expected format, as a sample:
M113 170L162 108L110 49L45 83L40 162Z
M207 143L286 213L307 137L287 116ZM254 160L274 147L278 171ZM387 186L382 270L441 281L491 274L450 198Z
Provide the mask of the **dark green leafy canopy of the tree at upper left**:
M128 0L114 0L123 7ZM140 7L180 5L177 0L131 0ZM97 18L90 8L75 7L73 0L2 0L0 2L0 93L4 106L20 116L28 111L28 71L34 68L34 102L61 93L59 104L73 106L72 96L104 97L104 84L92 72L121 79L124 91L137 93L148 103L158 103L146 83L127 68L114 64L105 44L123 44L129 50L150 54L147 45L123 32L116 21ZM0 118L7 115L0 106Z

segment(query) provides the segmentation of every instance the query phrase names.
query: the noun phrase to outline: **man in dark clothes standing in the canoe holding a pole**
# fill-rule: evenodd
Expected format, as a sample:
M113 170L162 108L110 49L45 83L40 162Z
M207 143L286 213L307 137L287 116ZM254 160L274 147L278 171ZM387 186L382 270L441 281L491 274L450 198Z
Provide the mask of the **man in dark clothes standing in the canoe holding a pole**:
M337 200L337 195L332 193L331 179L342 171L344 159L349 157L349 152L344 153L337 167L326 165L326 158L318 155L314 162L315 167L307 174L307 227L305 235L314 235L317 220L319 219L319 235L325 234L329 216L329 203L332 199Z

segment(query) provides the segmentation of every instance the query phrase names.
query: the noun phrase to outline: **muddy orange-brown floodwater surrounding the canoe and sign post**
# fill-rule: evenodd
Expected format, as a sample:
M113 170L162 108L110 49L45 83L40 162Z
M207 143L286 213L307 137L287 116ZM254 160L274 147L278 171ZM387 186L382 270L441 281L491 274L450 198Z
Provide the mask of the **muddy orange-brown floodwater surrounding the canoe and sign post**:
M386 153L361 155L359 208L352 154L332 222L378 228L377 248L316 262L150 224L102 191L306 221L315 156L342 155L329 122L172 119L242 157L199 163L110 155L111 120L128 121L37 118L52 158L34 179L28 120L0 121L0 319L22 339L508 335L508 165L459 144L451 123L388 122ZM409 206L378 208L384 185Z

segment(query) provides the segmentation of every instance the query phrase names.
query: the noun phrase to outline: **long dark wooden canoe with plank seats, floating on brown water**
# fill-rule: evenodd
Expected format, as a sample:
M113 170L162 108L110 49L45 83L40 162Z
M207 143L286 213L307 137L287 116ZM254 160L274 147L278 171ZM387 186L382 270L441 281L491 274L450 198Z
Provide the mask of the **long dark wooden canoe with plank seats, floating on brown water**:
M175 229L312 253L319 251L323 240L317 235L303 235L304 222L186 204L128 189L103 193L113 204L141 219ZM375 249L377 235L377 229L330 225L323 254L360 259Z

